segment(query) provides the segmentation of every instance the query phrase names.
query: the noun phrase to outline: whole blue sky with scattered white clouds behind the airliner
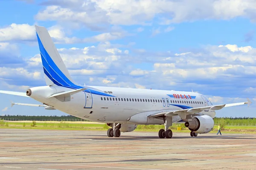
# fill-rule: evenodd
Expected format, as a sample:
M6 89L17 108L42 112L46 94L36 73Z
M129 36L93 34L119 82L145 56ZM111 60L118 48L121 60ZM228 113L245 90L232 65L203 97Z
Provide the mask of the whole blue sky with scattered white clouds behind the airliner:
M6 0L0 14L0 90L45 85L34 25L49 30L76 82L197 91L214 104L256 101L255 0ZM63 115L14 106L1 114ZM255 106L217 116L255 117Z

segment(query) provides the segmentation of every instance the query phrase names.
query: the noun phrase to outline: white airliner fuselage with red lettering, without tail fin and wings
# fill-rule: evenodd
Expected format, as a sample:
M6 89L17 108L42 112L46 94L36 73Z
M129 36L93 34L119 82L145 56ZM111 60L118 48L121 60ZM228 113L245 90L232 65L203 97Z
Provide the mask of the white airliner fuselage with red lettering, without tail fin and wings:
M100 86L86 86L86 88L99 91L100 94L90 93L90 90L82 91L71 95L70 101L62 102L58 98L49 99L48 97L63 91L70 91L70 88L42 86L31 88L30 97L70 115L93 122L144 125L164 123L161 119L149 120L147 116L153 113L212 105L209 99L195 92ZM215 112L208 109L199 114L215 117ZM136 120L130 120L130 117L134 115L138 115ZM179 116L174 116L172 122L179 120L181 120Z

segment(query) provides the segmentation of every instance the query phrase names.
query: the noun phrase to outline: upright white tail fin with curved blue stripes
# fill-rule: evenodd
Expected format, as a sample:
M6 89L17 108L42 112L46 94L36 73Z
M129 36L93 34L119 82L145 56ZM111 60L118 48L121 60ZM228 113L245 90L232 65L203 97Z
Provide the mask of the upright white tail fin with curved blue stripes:
M47 29L35 26L47 85L77 88Z

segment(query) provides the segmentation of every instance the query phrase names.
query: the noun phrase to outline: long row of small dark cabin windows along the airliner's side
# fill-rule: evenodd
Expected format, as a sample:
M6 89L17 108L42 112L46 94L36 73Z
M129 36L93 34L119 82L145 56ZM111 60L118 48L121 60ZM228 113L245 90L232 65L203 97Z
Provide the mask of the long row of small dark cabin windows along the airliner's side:
M102 97L101 97L101 100L103 100ZM152 102L152 101L153 101L153 102L159 102L159 103L162 102L162 99L153 99L153 100L152 100L152 99L131 99L131 98L130 98L130 99L128 99L128 98L124 98L124 99L123 99L123 98L121 98L121 99L118 98L118 99L117 99L117 98L114 98L114 97L113 97L113 98L111 98L111 97L108 98L108 97L107 97L107 99L106 99L106 97L104 97L104 100L108 100L108 101L109 101L109 100L110 100L110 101L112 101L112 100L113 100L113 101L117 101L117 100L118 100L118 101L127 101L127 102L128 102L128 101L130 101L130 102L131 102L131 101L133 101L133 102L134 102L134 101L135 101L135 102L137 102L137 101L138 101L138 102ZM165 100L164 100L164 99L163 99L163 102L165 103ZM169 100L167 99L166 102L169 103ZM179 101L179 100L170 100L170 103L185 103L185 104L187 103L187 104L198 104L198 105L199 105L199 104L203 104L203 102L198 102L198 101L193 101L193 102L191 101L191 102L190 102L190 101Z

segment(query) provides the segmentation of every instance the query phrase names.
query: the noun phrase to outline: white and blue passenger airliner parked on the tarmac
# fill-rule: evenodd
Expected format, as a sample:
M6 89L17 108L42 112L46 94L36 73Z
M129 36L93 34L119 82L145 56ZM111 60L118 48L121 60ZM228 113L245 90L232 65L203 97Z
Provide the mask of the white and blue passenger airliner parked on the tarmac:
M137 88L116 88L79 85L71 78L47 29L35 26L46 86L29 88L26 93L0 91L4 94L30 97L43 105L12 103L59 110L93 122L105 122L108 137L119 137L137 125L164 125L159 138L172 138L169 129L175 122L185 122L190 136L209 133L214 127L215 111L222 108L250 105L247 102L212 105L203 94Z

